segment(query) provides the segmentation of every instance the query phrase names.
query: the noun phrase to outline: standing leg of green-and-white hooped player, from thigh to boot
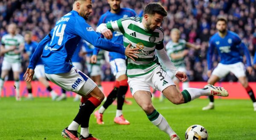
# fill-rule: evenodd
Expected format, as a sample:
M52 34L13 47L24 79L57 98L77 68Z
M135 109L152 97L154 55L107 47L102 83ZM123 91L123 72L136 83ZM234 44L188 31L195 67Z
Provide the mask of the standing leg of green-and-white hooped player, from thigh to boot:
M176 88L176 87L175 87ZM161 131L169 135L171 140L180 140L177 134L169 126L166 119L154 109L154 106L151 101L151 93L148 91L136 91L133 95L137 104L144 110L148 120L151 121L155 126L157 126Z

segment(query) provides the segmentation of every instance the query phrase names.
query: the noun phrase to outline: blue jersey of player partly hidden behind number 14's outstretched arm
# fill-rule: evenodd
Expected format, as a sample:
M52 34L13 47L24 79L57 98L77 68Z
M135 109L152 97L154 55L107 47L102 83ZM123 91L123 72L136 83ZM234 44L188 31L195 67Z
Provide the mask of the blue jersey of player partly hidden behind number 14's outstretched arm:
M97 26L99 26L102 23L108 23L108 22L119 20L121 18L135 17L135 16L136 16L136 12L134 10L130 9L130 8L121 8L119 13L116 13L116 14L111 13L110 10L109 10L100 17ZM102 35L102 37L104 37L104 36ZM123 44L122 33L114 31L113 32L113 38L110 39L110 41L115 42L115 43L119 43L119 44ZM99 49L96 48L95 51L93 52L93 54L97 54L98 52L99 52ZM125 55L120 54L120 53L116 53L116 52L109 52L110 61L112 61L113 59L117 59L117 58L125 59Z

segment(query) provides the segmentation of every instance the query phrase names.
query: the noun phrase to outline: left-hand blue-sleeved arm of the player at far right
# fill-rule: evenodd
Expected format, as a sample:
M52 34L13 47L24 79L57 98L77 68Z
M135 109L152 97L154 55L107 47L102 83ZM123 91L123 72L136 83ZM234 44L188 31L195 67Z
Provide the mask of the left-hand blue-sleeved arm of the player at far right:
M215 49L215 46L213 44L213 41L210 39L209 41L209 48L208 48L208 51L207 51L207 65L208 65L208 71L207 71L207 76L210 77L211 76L211 73L212 73L212 56L213 56L213 53L214 53L214 49Z

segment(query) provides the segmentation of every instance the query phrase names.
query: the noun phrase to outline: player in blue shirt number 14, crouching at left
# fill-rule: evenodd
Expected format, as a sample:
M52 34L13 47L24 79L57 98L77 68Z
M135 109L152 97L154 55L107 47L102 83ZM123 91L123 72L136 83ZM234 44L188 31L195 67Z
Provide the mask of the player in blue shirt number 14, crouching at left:
M81 104L78 114L70 125L62 131L62 136L70 140L97 140L89 134L88 126L90 115L101 104L104 94L97 85L84 73L73 67L71 58L82 39L95 47L116 51L125 54L134 60L137 58L130 45L124 48L122 45L102 39L96 34L86 20L92 13L91 0L73 0L73 10L61 17L41 42L33 54L29 67L24 74L26 81L31 81L34 75L35 65L38 59L42 59L47 78L67 91L73 91L86 97L87 101ZM78 137L77 130L81 125L81 135Z

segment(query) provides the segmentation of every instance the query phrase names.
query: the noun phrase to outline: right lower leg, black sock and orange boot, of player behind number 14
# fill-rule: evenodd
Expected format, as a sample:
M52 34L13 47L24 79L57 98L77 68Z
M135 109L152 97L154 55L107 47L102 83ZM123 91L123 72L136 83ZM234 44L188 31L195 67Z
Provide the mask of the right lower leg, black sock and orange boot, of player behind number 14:
M116 109L116 117L114 118L114 122L121 125L128 125L130 122L124 118L122 114L122 106L125 101L125 93L128 90L127 79L119 81L119 89L117 91L117 109Z

